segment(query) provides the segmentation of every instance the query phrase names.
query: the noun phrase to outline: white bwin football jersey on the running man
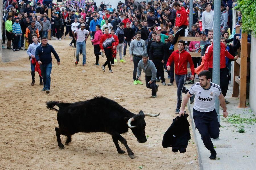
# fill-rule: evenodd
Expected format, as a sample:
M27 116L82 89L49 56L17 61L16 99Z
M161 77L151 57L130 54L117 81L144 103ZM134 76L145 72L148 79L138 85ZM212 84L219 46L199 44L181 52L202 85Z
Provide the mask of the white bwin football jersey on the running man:
M216 96L221 95L220 86L210 82L211 86L204 89L200 83L195 83L189 89L189 94L195 94L194 109L199 112L210 112L215 109L214 100Z

